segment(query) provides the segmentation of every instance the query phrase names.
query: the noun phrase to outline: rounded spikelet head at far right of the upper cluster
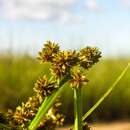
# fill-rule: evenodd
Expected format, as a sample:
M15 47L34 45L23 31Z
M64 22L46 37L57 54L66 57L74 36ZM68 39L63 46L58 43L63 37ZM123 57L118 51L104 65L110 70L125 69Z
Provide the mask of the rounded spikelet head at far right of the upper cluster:
M101 52L96 47L86 47L79 52L80 65L85 69L89 69L97 63L100 57Z

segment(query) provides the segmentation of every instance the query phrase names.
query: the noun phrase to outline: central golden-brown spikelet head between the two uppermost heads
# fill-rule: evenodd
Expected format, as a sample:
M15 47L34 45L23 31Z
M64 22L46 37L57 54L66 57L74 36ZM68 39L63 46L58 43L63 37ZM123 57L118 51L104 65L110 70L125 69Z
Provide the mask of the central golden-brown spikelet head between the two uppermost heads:
M77 65L78 57L76 51L60 51L53 59L52 73L57 77L68 74L71 67Z

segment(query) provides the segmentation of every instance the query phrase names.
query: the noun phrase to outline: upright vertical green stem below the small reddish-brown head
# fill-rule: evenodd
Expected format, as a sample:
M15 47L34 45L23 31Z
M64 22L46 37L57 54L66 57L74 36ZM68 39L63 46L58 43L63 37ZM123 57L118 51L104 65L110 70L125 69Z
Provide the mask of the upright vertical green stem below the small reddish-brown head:
M81 87L74 89L74 130L82 130L82 99Z

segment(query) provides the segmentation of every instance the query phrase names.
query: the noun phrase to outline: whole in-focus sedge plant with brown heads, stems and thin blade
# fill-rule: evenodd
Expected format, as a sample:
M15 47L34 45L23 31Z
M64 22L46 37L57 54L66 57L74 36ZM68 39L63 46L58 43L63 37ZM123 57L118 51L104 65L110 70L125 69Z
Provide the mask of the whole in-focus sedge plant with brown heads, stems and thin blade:
M84 120L109 95L129 67L83 116L81 89L89 81L85 72L100 58L101 52L95 47L86 47L79 51L63 51L57 43L47 41L39 52L38 59L43 64L50 64L50 76L40 77L34 84L34 96L18 106L15 111L9 110L2 115L4 121L0 126L10 130L54 130L64 122L64 116L59 112L61 103L56 101L64 91L65 84L69 83L74 91L74 130L88 130L89 127Z

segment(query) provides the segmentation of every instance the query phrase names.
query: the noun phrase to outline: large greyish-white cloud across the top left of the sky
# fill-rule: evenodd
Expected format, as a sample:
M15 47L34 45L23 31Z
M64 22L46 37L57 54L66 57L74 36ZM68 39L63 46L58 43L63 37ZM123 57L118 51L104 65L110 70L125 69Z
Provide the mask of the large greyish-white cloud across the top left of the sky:
M78 19L71 7L78 0L0 0L0 16L7 19L59 20Z

